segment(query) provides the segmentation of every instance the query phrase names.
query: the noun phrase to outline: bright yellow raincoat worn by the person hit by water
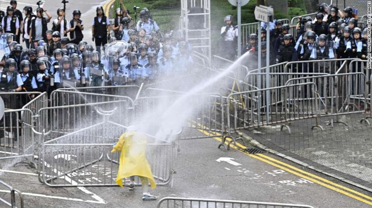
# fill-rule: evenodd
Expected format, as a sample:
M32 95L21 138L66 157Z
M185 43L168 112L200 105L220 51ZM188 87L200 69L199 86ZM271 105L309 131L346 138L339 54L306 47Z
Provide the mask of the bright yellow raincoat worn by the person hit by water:
M119 138L111 152L121 151L116 183L123 187L123 178L138 175L150 181L151 189L156 187L150 164L146 159L147 137L144 134L130 131Z

